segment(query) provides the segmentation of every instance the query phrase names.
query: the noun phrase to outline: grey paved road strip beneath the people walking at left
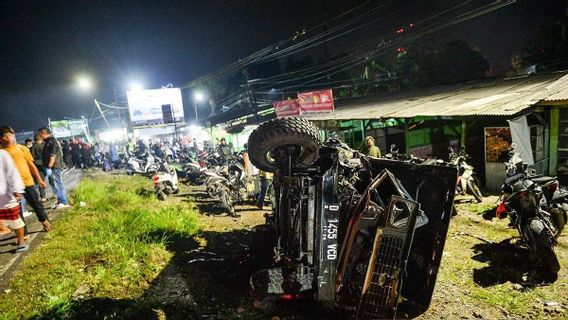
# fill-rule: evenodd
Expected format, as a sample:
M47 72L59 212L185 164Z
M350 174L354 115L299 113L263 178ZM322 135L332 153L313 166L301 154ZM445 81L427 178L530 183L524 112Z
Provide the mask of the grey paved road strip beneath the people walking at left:
M63 184L67 189L69 194L72 191L83 176L81 170L66 170L63 175ZM47 197L48 201L44 203L49 219L54 222L55 228L57 228L57 218L63 214L66 209L53 210L50 209L53 204L55 204L56 199L51 191L51 187L47 187ZM37 220L35 214L26 217L26 224L28 225L28 231L30 233L30 239L28 244L30 245L30 250L25 253L14 253L16 246L14 242L16 241L16 235L12 232L11 235L0 238L0 290L6 289L6 284L10 279L12 273L17 269L18 265L23 261L25 256L34 250L34 248L41 242L45 232L42 232L42 225Z

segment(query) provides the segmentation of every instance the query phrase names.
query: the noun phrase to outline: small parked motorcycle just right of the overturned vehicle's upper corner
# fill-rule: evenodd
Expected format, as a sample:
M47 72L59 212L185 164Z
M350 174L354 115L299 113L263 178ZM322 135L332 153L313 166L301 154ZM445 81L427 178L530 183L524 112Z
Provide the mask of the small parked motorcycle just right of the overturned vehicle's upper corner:
M479 190L479 179L473 171L473 166L469 165L466 161L469 156L462 149L459 153L454 151L454 148L449 147L449 164L458 169L458 180L456 184L456 193L461 195L470 194L477 202L483 201L483 195Z

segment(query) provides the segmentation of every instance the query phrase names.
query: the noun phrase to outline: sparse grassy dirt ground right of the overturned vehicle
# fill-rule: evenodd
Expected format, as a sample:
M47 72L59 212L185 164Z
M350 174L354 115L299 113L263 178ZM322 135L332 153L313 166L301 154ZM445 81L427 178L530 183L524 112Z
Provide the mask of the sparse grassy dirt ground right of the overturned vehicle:
M486 221L481 213L493 203L459 205L452 219L430 310L424 319L480 318L567 319L566 309L548 310L556 302L568 306L568 236L555 248L561 270L556 282L527 285L535 269L532 252L519 243L508 219Z

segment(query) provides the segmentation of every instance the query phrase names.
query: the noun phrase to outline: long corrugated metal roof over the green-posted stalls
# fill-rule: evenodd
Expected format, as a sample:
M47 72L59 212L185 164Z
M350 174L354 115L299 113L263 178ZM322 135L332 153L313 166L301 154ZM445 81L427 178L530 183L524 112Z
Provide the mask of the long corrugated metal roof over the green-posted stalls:
M306 114L311 120L412 118L416 116L514 115L536 103L568 95L566 73L542 74L435 87L387 97L339 102L332 114Z

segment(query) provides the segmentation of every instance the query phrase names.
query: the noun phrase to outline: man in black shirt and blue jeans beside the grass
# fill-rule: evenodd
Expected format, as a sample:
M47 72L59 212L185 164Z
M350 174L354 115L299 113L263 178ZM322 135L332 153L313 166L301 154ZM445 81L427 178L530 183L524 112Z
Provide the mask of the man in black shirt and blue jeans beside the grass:
M45 176L49 179L49 184L53 193L57 197L55 209L69 207L65 187L63 186L63 172L61 171L61 144L52 135L48 128L39 129L39 136L43 139L42 161L45 168Z

